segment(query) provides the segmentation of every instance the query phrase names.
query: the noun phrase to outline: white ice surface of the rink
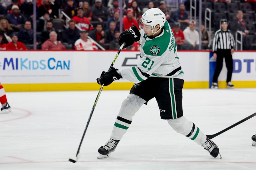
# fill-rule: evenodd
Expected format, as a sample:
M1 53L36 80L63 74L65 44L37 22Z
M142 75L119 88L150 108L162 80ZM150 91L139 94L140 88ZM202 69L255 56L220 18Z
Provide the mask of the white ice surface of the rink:
M222 159L161 120L156 100L144 105L109 158L97 159L129 91L102 91L76 164L76 151L98 91L9 92L0 113L0 170L256 169L256 116L213 138ZM183 90L185 117L211 135L256 112L256 89Z

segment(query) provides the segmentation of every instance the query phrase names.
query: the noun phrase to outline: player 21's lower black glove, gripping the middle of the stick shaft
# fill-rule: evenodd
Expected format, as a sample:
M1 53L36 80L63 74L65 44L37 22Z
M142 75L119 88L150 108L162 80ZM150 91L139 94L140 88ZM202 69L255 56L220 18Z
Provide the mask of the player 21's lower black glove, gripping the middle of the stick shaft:
M120 78L122 78L122 76L118 74L116 70L118 69L114 67L110 67L108 72L102 71L100 78L96 79L97 83L99 85L104 84L104 86L107 86L107 85L110 85L113 81L119 80Z

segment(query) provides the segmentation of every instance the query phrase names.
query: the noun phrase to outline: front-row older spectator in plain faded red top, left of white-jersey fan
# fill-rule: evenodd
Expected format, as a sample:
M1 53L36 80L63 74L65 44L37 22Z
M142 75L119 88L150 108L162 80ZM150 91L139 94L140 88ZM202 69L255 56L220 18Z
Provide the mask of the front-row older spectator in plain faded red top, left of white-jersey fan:
M57 33L52 31L50 33L50 38L42 44L43 50L64 50L66 49L60 41L57 41Z

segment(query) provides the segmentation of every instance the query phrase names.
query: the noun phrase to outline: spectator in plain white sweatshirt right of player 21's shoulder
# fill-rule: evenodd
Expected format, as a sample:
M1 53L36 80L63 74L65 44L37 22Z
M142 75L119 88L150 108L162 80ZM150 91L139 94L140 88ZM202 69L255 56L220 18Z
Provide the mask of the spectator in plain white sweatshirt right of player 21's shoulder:
M191 20L189 26L183 31L186 43L190 44L190 49L198 49L199 33L195 30L196 22Z

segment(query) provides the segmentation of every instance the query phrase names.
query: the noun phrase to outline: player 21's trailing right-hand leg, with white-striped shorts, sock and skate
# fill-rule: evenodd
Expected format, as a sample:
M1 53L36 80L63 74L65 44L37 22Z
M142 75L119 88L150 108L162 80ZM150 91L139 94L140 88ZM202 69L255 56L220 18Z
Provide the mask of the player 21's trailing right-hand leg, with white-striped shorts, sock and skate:
M168 85L166 85L168 83ZM184 81L178 78L169 78L159 85L156 100L162 119L167 119L169 125L178 133L188 137L206 149L213 157L219 155L219 148L193 123L183 116L182 88ZM166 93L168 87L169 92ZM161 100L164 98L164 100ZM221 156L220 156L221 158Z

